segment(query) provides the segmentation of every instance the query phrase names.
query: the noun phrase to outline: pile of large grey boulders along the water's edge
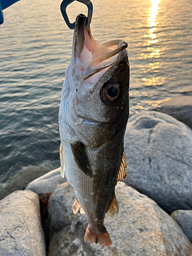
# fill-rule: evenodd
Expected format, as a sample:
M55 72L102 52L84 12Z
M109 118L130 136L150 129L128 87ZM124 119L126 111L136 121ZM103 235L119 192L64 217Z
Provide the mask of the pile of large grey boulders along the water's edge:
M162 104L169 115L160 108L129 119L119 213L105 217L111 247L83 241L87 219L73 214L73 188L57 168L0 201L0 255L192 256L192 130L179 121L192 123L192 97L179 98Z

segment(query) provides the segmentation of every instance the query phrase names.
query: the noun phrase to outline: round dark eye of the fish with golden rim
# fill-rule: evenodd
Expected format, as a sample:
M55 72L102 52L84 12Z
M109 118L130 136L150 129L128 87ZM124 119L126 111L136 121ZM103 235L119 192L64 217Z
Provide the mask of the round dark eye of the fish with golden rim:
M106 103L115 103L122 96L122 87L118 83L104 84L100 91L101 100Z

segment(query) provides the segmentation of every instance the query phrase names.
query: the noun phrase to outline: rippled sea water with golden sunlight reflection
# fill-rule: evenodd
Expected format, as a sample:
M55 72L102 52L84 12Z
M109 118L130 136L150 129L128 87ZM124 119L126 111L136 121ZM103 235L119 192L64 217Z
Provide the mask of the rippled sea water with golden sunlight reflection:
M93 0L92 34L129 43L131 115L192 95L191 0ZM0 182L28 165L59 166L58 109L73 31L61 0L20 1L0 26ZM87 7L67 8L71 21Z

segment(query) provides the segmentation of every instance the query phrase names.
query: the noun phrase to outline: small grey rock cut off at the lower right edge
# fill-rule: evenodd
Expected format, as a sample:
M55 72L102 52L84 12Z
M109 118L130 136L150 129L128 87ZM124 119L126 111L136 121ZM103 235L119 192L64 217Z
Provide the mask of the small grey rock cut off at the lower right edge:
M192 243L192 210L175 210L170 216L177 221L186 237Z

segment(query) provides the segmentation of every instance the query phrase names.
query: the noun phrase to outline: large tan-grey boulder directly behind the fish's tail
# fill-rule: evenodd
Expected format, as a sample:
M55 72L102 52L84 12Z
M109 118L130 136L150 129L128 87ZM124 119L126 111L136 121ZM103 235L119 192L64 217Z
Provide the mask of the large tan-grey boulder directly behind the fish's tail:
M116 186L118 215L105 216L112 246L84 242L88 222L72 213L74 190L58 185L49 200L51 233L49 256L191 256L192 245L179 225L152 199L119 182ZM54 230L55 229L55 230ZM53 231L54 230L54 231Z

